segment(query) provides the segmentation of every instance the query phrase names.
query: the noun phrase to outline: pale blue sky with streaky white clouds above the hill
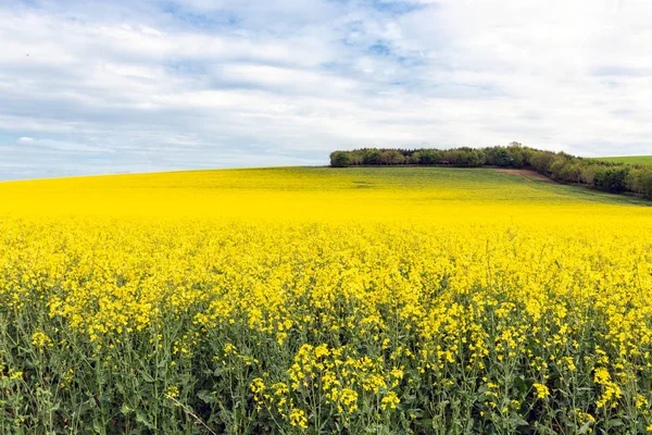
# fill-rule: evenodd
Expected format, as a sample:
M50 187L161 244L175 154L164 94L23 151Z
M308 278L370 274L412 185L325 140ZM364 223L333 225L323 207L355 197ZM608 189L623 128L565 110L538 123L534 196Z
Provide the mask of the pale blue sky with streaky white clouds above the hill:
M649 0L0 0L0 179L652 154Z

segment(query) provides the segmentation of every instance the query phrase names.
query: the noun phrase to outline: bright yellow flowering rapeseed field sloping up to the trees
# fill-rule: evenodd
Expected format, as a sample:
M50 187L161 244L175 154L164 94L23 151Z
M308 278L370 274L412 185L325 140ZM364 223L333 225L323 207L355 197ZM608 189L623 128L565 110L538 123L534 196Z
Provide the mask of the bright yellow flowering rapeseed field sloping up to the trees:
M652 208L493 170L0 184L2 434L652 431Z

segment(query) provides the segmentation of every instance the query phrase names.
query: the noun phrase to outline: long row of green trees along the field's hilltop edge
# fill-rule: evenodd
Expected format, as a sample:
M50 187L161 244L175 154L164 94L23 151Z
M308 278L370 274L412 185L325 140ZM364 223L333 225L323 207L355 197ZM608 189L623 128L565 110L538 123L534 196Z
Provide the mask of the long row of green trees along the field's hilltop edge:
M506 147L453 148L447 150L362 148L335 151L330 165L449 165L531 169L561 183L582 184L614 194L632 192L652 199L652 166L582 159L512 142Z

